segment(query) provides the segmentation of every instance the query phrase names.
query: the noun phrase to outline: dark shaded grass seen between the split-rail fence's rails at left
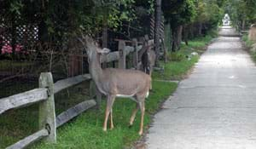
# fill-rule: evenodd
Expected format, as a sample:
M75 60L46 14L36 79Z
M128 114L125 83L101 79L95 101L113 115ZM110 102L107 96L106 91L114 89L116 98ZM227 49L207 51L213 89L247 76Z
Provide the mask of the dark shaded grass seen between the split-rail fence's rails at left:
M10 84L12 83L12 85ZM13 82L0 84L0 98L9 95L34 89L38 87L37 80L28 82L27 80L13 80ZM88 83L61 91L55 95L55 112L59 114L69 107L72 107L83 100L89 100ZM27 135L38 130L38 104L10 110L0 115L0 148L5 148L16 141L23 139Z

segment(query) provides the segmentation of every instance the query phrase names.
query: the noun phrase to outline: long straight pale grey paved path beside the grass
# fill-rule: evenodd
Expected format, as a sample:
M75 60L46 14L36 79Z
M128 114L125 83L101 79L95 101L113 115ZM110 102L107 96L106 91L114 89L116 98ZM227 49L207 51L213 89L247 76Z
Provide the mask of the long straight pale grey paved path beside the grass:
M155 115L147 148L256 148L256 67L232 28L220 35Z

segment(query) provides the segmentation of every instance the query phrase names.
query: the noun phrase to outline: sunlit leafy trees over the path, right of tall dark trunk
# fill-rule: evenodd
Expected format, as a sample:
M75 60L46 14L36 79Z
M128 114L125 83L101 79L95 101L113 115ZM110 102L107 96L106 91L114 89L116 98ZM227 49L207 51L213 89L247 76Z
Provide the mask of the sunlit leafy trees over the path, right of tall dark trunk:
M163 0L162 10L172 30L172 51L179 49L182 39L186 42L216 28L224 16L223 4L221 0Z

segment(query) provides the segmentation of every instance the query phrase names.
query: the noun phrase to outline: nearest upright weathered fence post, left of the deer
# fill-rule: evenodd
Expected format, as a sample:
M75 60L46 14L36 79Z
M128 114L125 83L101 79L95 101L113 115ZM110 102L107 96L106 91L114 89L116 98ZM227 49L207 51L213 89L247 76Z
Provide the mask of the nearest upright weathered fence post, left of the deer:
M50 72L43 72L39 77L39 88L48 89L48 99L39 104L39 129L47 129L47 142L56 142L54 83Z

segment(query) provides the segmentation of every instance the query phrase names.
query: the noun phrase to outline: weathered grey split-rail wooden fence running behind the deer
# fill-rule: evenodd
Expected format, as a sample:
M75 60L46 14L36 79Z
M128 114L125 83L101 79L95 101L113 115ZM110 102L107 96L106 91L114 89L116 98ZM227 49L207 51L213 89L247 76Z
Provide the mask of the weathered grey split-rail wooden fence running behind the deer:
M103 56L101 62L103 63L118 60L119 68L123 69L126 68L125 57L130 53L133 56L132 63L134 68L139 69L141 65L139 62L141 54L143 54L143 51L147 49L148 44L154 43L152 40L145 40L143 45L138 45L137 39L133 39L132 42L124 40L119 40L118 42L119 51L109 53L107 56ZM132 46L126 46L125 43L132 43ZM14 145L8 146L7 148L24 148L43 138L47 142L55 143L56 129L58 127L64 123L67 123L73 117L77 117L80 113L86 111L90 107L99 107L102 102L102 95L96 90L96 100L93 99L94 95L92 95L91 100L84 100L78 105L67 109L65 112L62 112L60 115L55 116L55 94L60 92L62 89L67 89L86 80L90 80L90 93L94 92L93 90L96 89L96 87L91 80L90 74L69 77L54 83L52 74L50 72L43 72L39 77L38 89L32 89L17 95L0 99L0 114L10 109L29 106L39 102L39 130L36 133L27 136L23 140L19 140Z

